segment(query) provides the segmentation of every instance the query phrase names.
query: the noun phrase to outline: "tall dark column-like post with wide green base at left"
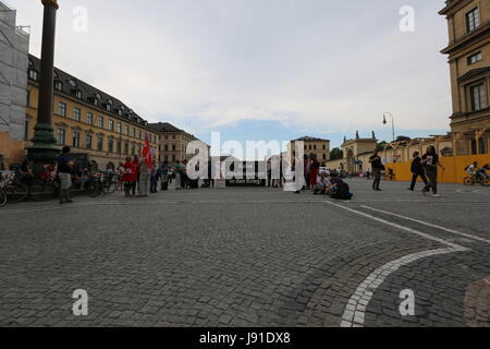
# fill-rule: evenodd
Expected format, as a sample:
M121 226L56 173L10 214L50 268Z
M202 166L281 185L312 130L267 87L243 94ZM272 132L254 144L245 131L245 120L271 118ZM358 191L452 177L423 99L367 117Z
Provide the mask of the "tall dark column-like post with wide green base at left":
M57 159L59 149L51 125L53 99L54 35L57 25L57 0L41 0L44 10L42 46L39 82L37 123L34 128L34 145L27 148L27 157L34 163L34 172L39 174L44 166Z

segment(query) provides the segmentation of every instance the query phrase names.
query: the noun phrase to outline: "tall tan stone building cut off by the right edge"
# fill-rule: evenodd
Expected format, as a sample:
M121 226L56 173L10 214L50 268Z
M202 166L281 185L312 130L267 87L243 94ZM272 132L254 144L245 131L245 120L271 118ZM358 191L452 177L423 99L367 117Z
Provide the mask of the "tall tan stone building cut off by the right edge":
M448 55L455 155L490 149L490 1L448 0L439 12L448 20Z

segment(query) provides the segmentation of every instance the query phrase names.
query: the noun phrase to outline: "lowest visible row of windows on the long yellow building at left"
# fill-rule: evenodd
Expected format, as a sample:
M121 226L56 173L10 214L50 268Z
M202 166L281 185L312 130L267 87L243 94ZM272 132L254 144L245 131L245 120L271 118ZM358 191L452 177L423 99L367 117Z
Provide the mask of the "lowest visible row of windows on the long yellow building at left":
M57 143L58 145L68 145L66 144L66 130L58 129L57 130ZM81 148L81 132L73 132L72 144L74 148ZM114 147L115 146L115 147ZM85 137L85 148L94 149L94 136L91 134L87 134ZM124 146L122 141L109 139L107 141L107 152L123 154L123 155L138 155L142 154L143 145L131 144L131 153L130 153L130 143L124 142ZM103 152L103 137L97 137L96 151ZM137 151L137 153L136 153Z

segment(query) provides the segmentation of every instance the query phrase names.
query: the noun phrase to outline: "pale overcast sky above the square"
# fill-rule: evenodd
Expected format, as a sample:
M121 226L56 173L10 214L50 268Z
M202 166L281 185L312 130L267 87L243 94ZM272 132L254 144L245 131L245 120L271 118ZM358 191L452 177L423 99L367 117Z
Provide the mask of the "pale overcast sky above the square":
M40 0L9 0L32 26ZM209 141L391 139L449 130L444 0L59 0L56 64L151 122ZM76 7L87 32L74 29ZM415 32L399 11L415 9Z

